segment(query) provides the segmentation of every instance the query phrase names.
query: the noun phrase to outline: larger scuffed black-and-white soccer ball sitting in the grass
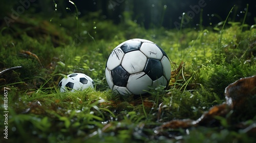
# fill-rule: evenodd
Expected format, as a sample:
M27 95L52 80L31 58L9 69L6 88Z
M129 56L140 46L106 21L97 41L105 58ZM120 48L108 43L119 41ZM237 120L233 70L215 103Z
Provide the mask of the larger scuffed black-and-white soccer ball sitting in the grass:
M139 95L170 81L170 61L152 41L131 39L111 52L106 62L105 77L109 87L122 95Z

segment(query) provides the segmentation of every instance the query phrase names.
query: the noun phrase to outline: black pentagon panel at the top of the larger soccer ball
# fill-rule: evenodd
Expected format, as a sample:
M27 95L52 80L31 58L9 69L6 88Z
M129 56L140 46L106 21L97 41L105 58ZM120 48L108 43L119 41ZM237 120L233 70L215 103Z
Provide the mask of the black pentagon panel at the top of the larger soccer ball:
M139 50L142 42L140 41L135 41L135 40L130 40L125 42L123 45L121 45L121 49L124 53L128 53L131 51Z

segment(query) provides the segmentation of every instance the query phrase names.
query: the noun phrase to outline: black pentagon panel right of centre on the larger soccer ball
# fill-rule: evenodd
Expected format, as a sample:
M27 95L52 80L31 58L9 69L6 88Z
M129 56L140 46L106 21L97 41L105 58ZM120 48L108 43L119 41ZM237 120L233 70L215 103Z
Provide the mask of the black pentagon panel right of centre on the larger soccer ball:
M163 76L163 66L159 60L148 59L144 72L150 77L153 81L157 80Z

